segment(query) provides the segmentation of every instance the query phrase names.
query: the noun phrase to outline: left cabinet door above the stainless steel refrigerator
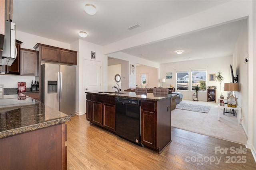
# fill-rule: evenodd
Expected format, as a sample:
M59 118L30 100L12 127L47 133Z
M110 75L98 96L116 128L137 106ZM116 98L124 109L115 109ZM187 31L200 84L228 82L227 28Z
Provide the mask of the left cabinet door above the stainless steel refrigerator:
M42 60L59 62L60 50L42 46Z

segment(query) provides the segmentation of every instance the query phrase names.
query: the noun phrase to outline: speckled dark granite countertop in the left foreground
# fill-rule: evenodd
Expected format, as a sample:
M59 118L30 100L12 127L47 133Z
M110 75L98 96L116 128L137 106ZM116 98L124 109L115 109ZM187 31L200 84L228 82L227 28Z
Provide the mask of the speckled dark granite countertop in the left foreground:
M0 139L70 121L66 115L28 96L4 95L0 99Z

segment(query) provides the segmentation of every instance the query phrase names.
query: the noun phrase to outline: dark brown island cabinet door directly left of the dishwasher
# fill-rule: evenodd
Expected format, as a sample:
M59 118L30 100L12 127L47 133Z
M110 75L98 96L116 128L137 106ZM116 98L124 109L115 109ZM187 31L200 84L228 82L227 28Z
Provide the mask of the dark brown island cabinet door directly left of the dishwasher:
M103 104L103 127L113 132L116 131L116 111L114 105Z

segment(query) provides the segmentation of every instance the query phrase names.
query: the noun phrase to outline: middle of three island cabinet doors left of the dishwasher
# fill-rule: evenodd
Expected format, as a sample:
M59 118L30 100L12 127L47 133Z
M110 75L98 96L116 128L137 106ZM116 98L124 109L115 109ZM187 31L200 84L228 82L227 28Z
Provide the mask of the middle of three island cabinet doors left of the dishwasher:
M92 102L92 123L102 126L102 103Z

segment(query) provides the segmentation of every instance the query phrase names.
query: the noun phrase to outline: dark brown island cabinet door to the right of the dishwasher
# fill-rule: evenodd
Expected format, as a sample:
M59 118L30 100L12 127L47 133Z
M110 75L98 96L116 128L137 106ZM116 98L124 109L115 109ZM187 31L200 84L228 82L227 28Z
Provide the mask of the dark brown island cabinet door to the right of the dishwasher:
M156 149L156 113L141 111L141 143Z

